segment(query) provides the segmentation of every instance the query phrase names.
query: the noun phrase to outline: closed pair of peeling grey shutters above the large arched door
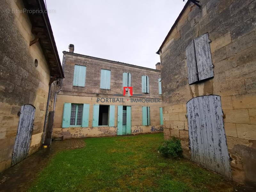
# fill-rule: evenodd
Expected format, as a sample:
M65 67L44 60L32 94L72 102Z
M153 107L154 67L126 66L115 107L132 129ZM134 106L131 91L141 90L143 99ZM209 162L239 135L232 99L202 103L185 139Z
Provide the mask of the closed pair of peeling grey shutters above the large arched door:
M208 33L195 38L186 49L188 84L213 77Z

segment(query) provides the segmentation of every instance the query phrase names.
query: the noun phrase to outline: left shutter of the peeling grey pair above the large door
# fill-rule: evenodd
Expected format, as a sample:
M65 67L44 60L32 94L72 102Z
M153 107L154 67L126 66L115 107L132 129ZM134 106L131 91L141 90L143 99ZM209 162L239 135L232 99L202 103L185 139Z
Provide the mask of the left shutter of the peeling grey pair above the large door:
M192 84L198 81L194 40L186 49L186 57L188 67L188 84Z

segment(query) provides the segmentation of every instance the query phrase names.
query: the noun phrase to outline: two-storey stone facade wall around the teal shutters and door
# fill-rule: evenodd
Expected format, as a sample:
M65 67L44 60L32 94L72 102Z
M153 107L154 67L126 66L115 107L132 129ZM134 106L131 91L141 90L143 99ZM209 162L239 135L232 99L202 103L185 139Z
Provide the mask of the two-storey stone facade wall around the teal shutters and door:
M64 136L64 138L76 137L98 137L117 135L117 105L132 106L132 134L163 132L160 125L160 107L162 107L162 95L159 95L158 78L160 71L148 68L137 68L136 66L125 66L118 62L92 58L85 55L78 55L64 52L64 74L62 91L57 95L53 136ZM85 87L73 86L75 64L86 66ZM110 90L100 89L100 70L111 70ZM115 96L123 94L123 72L131 73L131 85L133 94L142 96ZM149 93L141 92L141 76L149 76ZM124 98L124 103L97 102L98 98ZM155 98L157 103L131 103L131 98ZM128 99L128 101L127 101ZM87 103L90 104L89 127L61 128L64 103ZM116 105L114 127L92 127L93 104ZM142 106L150 107L150 125L142 126Z

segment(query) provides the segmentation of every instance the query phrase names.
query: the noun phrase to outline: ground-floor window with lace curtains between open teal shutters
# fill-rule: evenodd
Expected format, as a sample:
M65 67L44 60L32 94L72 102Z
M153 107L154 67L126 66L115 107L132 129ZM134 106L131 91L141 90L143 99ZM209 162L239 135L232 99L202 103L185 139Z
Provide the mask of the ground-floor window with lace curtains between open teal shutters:
M83 104L71 104L70 125L82 125Z

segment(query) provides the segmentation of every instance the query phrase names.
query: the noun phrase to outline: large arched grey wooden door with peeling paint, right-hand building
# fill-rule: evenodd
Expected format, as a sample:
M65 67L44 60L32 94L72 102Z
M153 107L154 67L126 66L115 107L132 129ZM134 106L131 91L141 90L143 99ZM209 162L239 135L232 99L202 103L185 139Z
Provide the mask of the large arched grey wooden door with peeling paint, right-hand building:
M231 178L220 96L189 100L187 113L191 160Z

